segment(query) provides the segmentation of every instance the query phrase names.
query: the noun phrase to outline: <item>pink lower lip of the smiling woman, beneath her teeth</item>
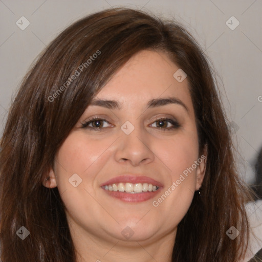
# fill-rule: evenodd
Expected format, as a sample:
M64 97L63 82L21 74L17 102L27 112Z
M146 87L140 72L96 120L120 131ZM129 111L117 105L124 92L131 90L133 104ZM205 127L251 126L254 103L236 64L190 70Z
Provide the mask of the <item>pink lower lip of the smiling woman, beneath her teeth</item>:
M109 191L103 189L108 195L110 195L113 198L119 199L123 202L129 202L129 203L137 203L137 202L144 202L149 199L155 198L156 194L159 193L160 188L154 192L142 192L142 193L125 193L125 192L119 192L119 191Z

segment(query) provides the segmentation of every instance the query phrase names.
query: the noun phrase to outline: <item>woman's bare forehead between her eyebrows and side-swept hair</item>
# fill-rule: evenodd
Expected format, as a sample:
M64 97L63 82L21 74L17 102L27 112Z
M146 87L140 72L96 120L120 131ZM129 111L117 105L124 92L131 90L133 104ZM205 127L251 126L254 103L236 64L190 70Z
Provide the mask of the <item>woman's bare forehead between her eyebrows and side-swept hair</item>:
M179 69L165 53L143 50L118 70L95 99L117 100L134 107L151 99L177 97L192 111L187 79L179 82L173 76Z

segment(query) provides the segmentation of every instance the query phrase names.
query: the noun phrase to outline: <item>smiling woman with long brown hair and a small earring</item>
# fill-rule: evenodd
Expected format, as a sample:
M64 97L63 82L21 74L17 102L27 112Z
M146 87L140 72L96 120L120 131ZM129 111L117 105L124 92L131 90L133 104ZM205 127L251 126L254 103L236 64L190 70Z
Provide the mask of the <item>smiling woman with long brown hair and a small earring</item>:
M110 9L65 29L1 140L2 260L243 261L226 117L180 25Z

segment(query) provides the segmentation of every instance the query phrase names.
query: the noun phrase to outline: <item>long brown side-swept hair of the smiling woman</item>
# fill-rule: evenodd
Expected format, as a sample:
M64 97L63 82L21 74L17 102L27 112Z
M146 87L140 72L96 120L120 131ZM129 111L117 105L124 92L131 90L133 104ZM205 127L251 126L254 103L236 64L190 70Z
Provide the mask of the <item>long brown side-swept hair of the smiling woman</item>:
M172 261L236 262L244 255L245 186L236 174L226 116L204 52L178 23L117 8L84 17L60 33L11 106L0 144L3 262L75 261L59 192L44 187L43 177L92 98L145 49L166 52L187 74L200 150L208 148L201 197L194 195L178 225ZM21 226L30 232L24 240L16 235ZM226 234L232 226L239 231L233 240Z

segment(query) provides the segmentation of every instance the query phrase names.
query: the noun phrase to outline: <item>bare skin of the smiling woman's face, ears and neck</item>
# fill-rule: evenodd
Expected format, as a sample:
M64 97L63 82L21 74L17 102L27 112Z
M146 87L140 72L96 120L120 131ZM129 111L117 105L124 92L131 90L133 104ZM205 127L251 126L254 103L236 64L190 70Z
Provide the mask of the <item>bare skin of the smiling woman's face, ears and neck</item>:
M134 55L96 96L116 100L121 108L88 106L58 150L54 170L47 175L50 180L43 184L59 189L77 261L171 261L177 226L205 174L202 161L158 207L152 205L200 158L188 82L173 77L178 69L162 52ZM150 99L166 97L180 99L188 111L180 104L147 108ZM82 128L95 116L109 124L100 122L101 132ZM177 120L180 127L165 131L157 121L161 118ZM129 135L121 129L126 121L135 127ZM140 203L122 202L100 187L127 172L155 179L164 187L156 198ZM68 181L73 173L82 179L77 187ZM127 226L134 232L129 239L121 234Z

